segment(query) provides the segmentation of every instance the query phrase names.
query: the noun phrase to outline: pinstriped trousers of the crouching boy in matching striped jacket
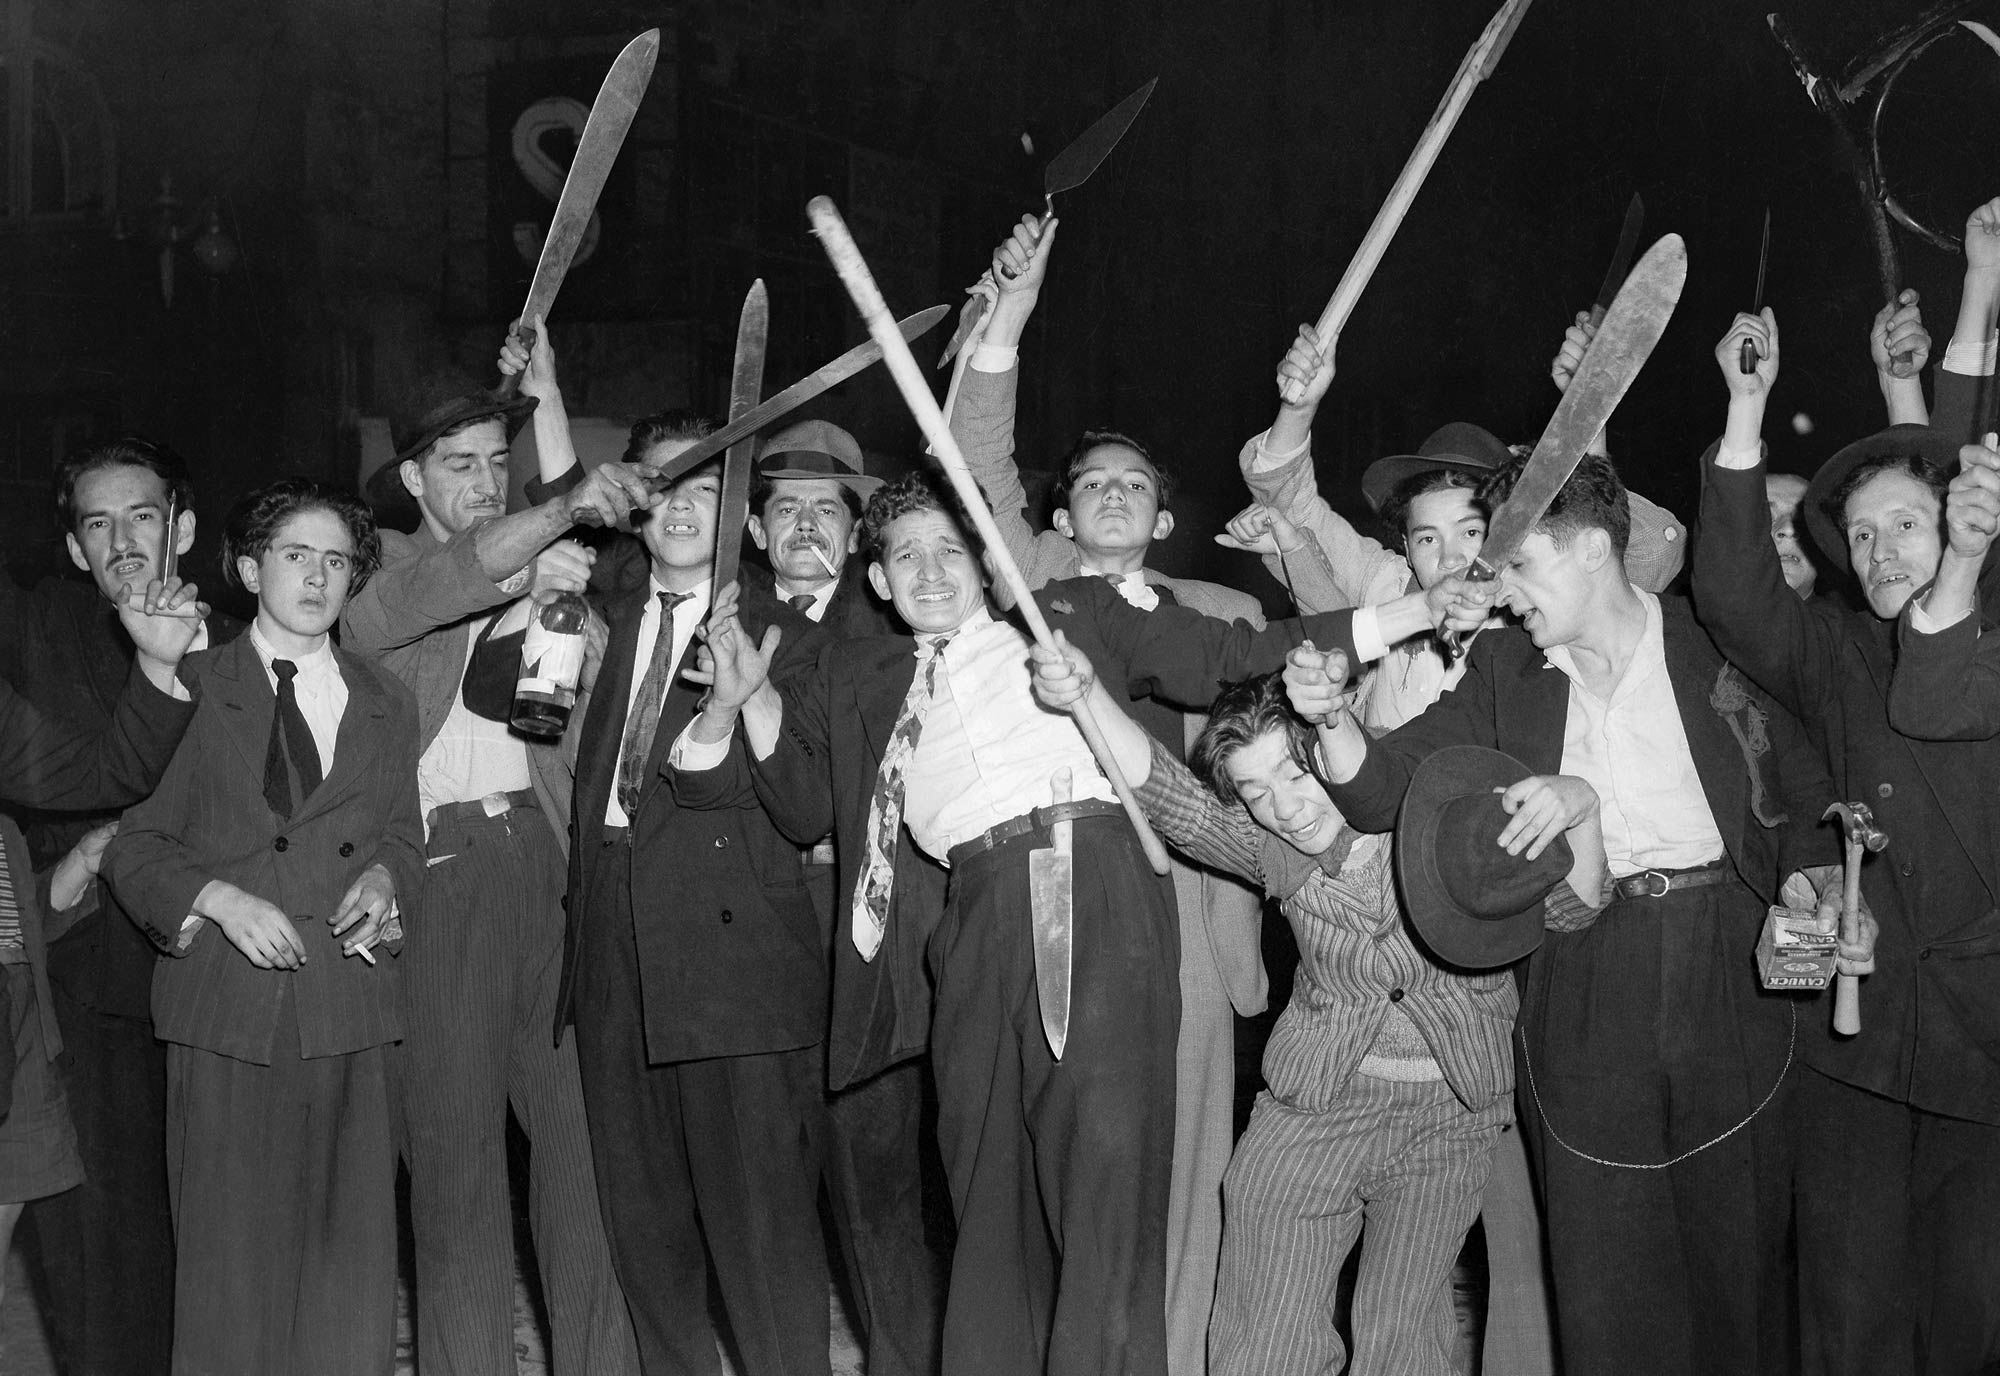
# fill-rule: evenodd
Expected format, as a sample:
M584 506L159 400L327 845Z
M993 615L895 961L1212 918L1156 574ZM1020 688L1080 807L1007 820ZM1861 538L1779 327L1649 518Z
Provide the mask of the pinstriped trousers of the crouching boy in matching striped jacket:
M1354 1074L1326 1112L1258 1094L1222 1178L1222 1274L1208 1328L1216 1376L1334 1376L1334 1292L1356 1238L1358 1376L1452 1376L1448 1278L1480 1212L1500 1096L1468 1110L1444 1080Z

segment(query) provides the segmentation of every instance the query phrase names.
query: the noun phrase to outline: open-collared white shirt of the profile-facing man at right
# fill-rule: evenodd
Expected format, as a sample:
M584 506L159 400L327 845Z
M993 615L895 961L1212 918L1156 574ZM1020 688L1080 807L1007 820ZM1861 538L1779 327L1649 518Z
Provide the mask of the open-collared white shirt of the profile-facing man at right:
M1562 772L1598 790L1612 878L1722 858L1722 830L1694 770L1666 672L1660 598L1634 592L1646 604L1646 630L1608 700L1584 686L1568 646L1546 654L1570 678Z

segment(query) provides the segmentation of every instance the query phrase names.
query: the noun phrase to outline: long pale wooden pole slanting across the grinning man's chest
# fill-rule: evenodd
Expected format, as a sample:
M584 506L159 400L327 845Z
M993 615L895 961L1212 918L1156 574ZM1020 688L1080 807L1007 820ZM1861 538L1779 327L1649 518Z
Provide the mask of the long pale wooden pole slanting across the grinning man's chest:
M924 370L918 366L916 354L910 352L910 344L896 330L896 318L890 314L888 302L882 300L882 290L876 286L874 274L868 272L854 236L848 234L840 212L834 210L834 202L826 196L814 196L806 204L806 214L812 220L812 232L820 238L820 246L840 274L840 282L848 288L854 308L868 324L868 334L882 346L882 362L888 364L890 376L896 378L896 390L902 392L904 404L916 416L918 428L930 442L930 452L938 456L946 476L952 480L952 488L958 490L958 500L966 508L966 516L972 518L980 540L986 542L986 556L992 560L994 572L1000 574L1000 580L1014 594L1014 602L1020 606L1028 630L1034 632L1036 644L1044 650L1056 650L1056 636L1042 616L1042 606L1034 600L1034 590L1022 578L1014 556L1008 554L1000 526L994 524L994 514L986 506L986 494L980 492L978 480L966 466L966 456L960 452L958 440L952 438L952 428L944 424L938 398L930 394L930 384L924 380ZM1160 844L1152 824L1146 822L1146 814L1140 812L1132 784L1126 782L1124 770L1118 768L1118 760L1112 756L1110 744L1098 728L1098 718L1090 714L1086 704L1078 702L1074 720L1076 730L1084 736L1084 744L1090 746L1090 754L1096 756L1098 766L1104 770L1104 778L1118 792L1118 802L1124 804L1126 816L1132 818L1132 830L1138 832L1140 846L1146 850L1146 862L1152 864L1154 874L1166 874L1166 846Z

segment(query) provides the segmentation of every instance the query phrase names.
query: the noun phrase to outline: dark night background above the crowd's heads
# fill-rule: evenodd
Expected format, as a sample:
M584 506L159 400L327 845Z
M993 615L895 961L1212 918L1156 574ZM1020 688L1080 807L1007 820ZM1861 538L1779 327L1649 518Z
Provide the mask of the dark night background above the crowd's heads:
M1692 514L1694 456L1722 420L1710 350L1748 306L1766 206L1786 364L1776 464L1810 472L1882 424L1866 218L1830 124L1764 26L1768 6L1536 0L1342 336L1316 430L1338 506L1360 510L1368 460L1446 420L1540 432L1556 398L1548 360L1590 302L1634 190L1646 238L1686 236L1692 270L1612 424L1632 486ZM1922 8L1798 0L1782 12L1838 74ZM624 422L720 406L752 276L772 290L766 390L856 342L806 234L814 192L848 214L898 314L956 302L1010 220L1040 206L1042 164L1160 76L1112 160L1058 206L1062 242L1024 348L1022 456L1052 464L1084 426L1146 438L1186 492L1160 562L1276 600L1252 560L1208 540L1242 504L1234 454L1270 424L1276 360L1318 316L1492 4L0 10L0 538L18 576L60 560L46 478L84 438L138 430L196 458L194 568L212 576L212 536L238 492L288 472L352 480L368 418L410 378L490 370L528 276L512 230L542 204L514 168L512 118L550 94L588 104L610 56L658 24L658 74L606 194L600 248L552 320L572 412ZM1992 0L1970 14L2000 24ZM1946 232L2000 194L1996 96L2000 56L1960 34L1902 76L1890 106L1890 180ZM560 136L544 148L568 156ZM168 170L180 204L162 210ZM192 254L210 208L236 248L222 274ZM1960 264L1902 232L1898 248L1942 356ZM880 374L816 410L882 462L918 448ZM1794 414L1810 434L1784 424Z

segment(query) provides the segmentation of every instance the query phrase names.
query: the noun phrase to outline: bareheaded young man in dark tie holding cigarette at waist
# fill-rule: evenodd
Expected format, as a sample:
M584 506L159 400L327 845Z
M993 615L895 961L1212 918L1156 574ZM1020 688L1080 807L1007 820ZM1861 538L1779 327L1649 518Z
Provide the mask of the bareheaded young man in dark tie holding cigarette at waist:
M194 724L104 856L170 960L174 1370L376 1376L394 1360L398 894L416 894L416 704L332 644L380 558L358 498L246 494L228 572L250 630L188 662Z

